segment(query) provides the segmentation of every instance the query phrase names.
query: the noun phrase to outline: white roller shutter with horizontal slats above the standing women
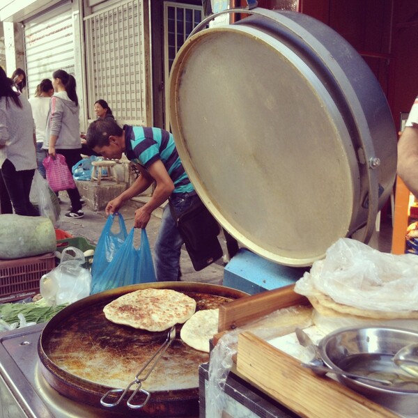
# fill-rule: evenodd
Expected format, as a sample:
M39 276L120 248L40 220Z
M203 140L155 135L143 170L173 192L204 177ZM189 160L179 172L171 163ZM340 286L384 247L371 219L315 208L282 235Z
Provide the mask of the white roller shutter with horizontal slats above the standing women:
M26 76L29 97L42 79L63 69L74 74L74 30L71 3L65 2L24 22Z

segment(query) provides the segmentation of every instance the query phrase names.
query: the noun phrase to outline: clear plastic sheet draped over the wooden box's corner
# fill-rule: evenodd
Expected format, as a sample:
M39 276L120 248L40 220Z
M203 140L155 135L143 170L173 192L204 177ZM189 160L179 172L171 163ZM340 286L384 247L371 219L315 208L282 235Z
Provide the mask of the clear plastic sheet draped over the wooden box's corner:
M244 327L224 334L210 353L206 415L211 418L222 417L226 378L233 366L233 357L238 348L238 335L241 332L249 331L261 339L269 340L290 334L295 331L295 327L303 328L309 325L311 325L310 307L290 307L274 311Z

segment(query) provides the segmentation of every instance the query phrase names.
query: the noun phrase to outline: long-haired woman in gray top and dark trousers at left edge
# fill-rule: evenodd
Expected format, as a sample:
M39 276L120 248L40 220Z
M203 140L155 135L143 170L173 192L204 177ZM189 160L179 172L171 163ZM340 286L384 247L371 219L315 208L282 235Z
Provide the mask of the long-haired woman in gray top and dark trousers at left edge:
M0 171L17 215L39 215L29 200L36 169L35 141L31 105L13 89L0 67ZM4 190L0 192L3 201Z

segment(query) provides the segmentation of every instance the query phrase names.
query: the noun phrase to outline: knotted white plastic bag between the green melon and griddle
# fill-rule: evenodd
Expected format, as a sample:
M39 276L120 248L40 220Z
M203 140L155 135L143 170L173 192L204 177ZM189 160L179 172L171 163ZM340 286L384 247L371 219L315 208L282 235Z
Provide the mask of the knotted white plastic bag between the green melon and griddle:
M49 306L73 303L90 294L91 273L82 268L84 262L83 251L67 247L61 263L40 278L40 294Z

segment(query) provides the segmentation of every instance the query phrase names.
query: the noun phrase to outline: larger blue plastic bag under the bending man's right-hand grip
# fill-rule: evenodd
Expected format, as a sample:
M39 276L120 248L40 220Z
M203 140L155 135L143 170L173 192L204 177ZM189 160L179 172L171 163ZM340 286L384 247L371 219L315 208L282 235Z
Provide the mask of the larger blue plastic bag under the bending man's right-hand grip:
M91 295L121 286L156 280L146 231L141 229L141 245L138 249L134 247L134 231L132 228L107 268L100 274L92 274Z

